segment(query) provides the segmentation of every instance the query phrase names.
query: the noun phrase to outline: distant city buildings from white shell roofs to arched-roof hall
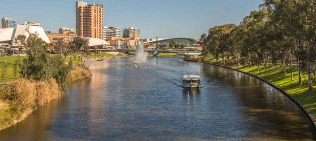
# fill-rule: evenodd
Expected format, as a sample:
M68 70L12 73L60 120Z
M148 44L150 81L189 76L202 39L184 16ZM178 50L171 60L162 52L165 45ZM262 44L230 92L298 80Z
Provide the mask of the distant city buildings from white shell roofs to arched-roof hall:
M197 41L190 38L151 38L141 39L141 30L135 27L128 27L121 30L119 27L104 26L103 23L103 4L88 4L84 1L76 2L76 29L59 28L59 33L46 31L38 22L23 22L20 25L12 18L3 17L0 26L0 51L3 49L14 53L11 47L22 46L15 43L17 35L26 35L37 33L47 43L57 40L70 41L74 37L84 37L91 40L89 45L98 46L99 49L106 48L136 48L137 42L142 40L147 47L160 48L178 48L185 46L193 48ZM28 31L26 32L26 30ZM158 42L158 45L157 45ZM98 45L99 44L99 45ZM11 48L11 50L10 50Z

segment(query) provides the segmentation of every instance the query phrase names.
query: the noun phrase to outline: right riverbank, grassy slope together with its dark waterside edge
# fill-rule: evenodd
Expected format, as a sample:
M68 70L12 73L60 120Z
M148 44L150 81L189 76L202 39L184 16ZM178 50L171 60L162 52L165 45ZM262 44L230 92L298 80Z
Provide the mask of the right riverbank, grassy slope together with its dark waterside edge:
M307 116L311 117L311 120L315 123L316 119L316 95L315 90L308 91L307 77L302 75L302 84L298 85L298 71L297 67L293 67L293 80L291 79L291 73L284 74L283 66L273 68L273 66L259 66L260 72L256 66L237 66L237 65L223 65L215 60L201 61L202 63L208 63L220 67L237 70L246 74L253 75L262 79L270 85L274 85L285 95L288 95L293 102L297 102L297 105L302 106L307 112ZM276 72L278 70L278 72ZM287 69L286 69L287 70ZM296 103L295 102L295 103ZM314 124L315 128L315 124Z

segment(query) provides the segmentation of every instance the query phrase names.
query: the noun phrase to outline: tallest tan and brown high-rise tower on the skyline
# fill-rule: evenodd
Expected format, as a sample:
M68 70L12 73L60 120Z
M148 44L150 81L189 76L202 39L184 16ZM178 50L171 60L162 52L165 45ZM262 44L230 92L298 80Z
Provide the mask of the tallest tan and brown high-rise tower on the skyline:
M103 5L77 1L76 28L79 36L103 39Z

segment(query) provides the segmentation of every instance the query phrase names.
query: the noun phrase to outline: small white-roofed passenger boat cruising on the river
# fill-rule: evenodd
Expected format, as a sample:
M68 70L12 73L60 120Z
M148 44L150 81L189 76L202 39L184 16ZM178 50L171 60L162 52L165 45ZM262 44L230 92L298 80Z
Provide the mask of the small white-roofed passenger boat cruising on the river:
M187 89L197 89L201 85L200 75L190 75L186 74L182 76L183 87Z

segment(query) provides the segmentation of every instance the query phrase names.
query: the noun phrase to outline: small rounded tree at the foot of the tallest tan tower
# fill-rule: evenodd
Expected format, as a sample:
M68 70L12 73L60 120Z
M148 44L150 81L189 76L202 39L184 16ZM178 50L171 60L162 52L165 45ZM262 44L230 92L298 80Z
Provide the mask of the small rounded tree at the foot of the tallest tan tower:
M79 52L80 50L83 50L83 52L86 53L85 51L89 48L89 39L79 36L74 37L70 46L74 52Z

